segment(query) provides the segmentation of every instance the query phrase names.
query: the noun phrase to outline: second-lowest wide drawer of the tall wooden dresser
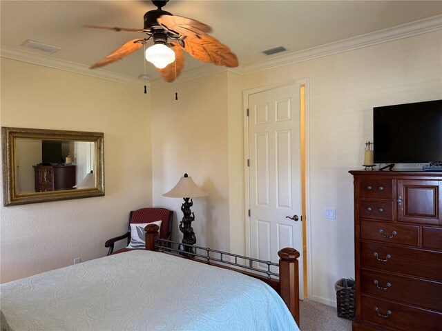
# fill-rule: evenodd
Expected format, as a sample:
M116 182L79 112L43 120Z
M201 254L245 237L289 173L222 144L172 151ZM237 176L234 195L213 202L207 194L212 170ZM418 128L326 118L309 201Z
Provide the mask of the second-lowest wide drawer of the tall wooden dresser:
M442 283L361 269L361 293L442 312Z

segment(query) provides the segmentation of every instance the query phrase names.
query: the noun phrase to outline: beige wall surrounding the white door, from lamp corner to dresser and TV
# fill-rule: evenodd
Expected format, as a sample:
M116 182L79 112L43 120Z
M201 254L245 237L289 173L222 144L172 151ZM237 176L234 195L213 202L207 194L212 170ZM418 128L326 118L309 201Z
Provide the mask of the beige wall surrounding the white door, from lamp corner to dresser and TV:
M222 73L182 81L180 101L173 100L172 87L158 83L152 100L154 204L169 206L180 219L181 201L161 194L189 172L211 193L195 199L199 243L213 248L230 244L232 252L241 252L244 110L236 109L238 100L230 98L238 96L231 93L305 79L309 297L333 305L334 282L354 277L353 180L348 171L361 168L364 142L372 139L372 108L442 99L441 34L421 34L239 80L233 74L233 81L229 75L226 81ZM325 219L325 208L336 208L336 219Z

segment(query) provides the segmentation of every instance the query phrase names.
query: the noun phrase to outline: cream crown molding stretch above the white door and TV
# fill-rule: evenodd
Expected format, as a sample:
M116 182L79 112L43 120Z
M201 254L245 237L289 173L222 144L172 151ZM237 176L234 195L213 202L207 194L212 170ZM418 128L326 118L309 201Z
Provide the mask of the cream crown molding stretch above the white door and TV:
M287 66L291 63L308 61L311 59L317 59L318 57L327 57L333 54L357 50L359 48L374 46L380 43L387 43L437 30L442 30L442 15L437 15L411 23L405 23L400 26L395 26L393 28L387 28L376 32L361 34L357 37L343 39L334 43L327 43L325 45L309 48L307 50L300 50L299 52L291 52L278 57L272 57L271 59L265 59L256 63L241 66L238 68L239 70L237 70L237 72L240 72L241 74L251 74L253 72L259 72L280 66Z

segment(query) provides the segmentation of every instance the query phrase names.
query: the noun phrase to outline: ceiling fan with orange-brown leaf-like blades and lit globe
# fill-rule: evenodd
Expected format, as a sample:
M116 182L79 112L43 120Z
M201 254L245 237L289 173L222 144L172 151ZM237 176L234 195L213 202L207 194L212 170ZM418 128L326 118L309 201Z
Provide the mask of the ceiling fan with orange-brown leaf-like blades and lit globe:
M166 6L168 2L169 0L152 0L157 9L144 14L143 29L86 26L87 28L117 32L144 32L148 36L128 41L90 68L99 68L122 59L138 48L142 48L150 39L153 39L153 46L146 49L146 60L153 63L162 78L168 82L176 79L184 66L183 50L195 59L214 63L216 66L227 66L229 68L238 66L238 59L230 48L220 43L218 39L209 36L210 26L195 19L176 16L162 10L161 8Z

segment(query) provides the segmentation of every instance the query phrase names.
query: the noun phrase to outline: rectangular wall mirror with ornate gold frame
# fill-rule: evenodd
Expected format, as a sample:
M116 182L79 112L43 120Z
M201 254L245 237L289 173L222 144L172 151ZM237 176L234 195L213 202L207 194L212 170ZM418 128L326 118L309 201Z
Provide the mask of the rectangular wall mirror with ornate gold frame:
M104 133L1 128L3 205L104 195Z

